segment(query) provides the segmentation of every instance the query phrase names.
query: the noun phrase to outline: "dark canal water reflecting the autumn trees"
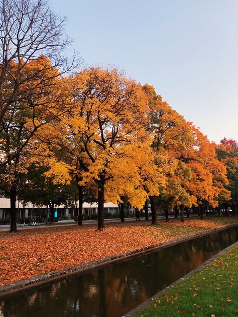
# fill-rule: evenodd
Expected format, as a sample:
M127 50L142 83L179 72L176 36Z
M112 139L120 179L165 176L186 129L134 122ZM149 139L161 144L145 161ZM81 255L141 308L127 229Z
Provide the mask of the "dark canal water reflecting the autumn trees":
M107 264L0 300L0 317L117 317L238 241L238 227Z

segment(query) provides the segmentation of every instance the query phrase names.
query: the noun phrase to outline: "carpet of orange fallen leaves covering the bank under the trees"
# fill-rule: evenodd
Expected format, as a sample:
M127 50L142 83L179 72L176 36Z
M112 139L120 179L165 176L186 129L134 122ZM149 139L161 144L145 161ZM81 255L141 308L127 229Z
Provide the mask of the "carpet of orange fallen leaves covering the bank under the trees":
M231 217L229 223L237 222ZM58 271L105 256L163 243L209 228L227 220L170 221L111 224L103 231L95 226L70 226L21 230L0 236L0 285Z

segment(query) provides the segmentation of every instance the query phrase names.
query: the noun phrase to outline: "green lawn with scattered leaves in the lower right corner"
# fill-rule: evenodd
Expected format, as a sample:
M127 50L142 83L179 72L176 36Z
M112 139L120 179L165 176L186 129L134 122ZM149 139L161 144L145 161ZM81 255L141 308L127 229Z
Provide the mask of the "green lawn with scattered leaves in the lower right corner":
M238 316L238 245L154 298L134 317Z

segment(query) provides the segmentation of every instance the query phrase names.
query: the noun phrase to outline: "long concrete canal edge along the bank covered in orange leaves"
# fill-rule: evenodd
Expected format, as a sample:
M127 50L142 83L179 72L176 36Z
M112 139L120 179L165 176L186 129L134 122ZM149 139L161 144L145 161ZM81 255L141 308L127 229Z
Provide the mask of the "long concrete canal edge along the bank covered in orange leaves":
M168 240L164 243L160 243L160 244L155 244L155 245L150 245L147 247L143 247L140 249L136 249L136 250L132 250L126 253L121 253L121 254L115 254L112 256L107 256L95 261L91 261L91 262L87 262L87 263L83 263L77 266L73 266L73 267L69 267L57 272L50 272L50 273L45 273L45 274L40 274L37 275L31 279L25 279L25 280L21 280L18 282L14 282L14 283L10 283L7 285L3 285L0 286L0 298L1 297L5 297L7 295L11 295L15 292L19 292L19 291L25 291L27 289L30 288L38 288L39 286L41 286L42 284L45 283L50 283L53 282L55 280L58 279L62 279L66 276L75 274L75 273L83 273L95 268L99 268L100 266L103 266L105 264L109 264L109 263L113 263L113 262L118 262L118 261L124 261L127 260L133 256L139 255L139 254L146 254L149 253L151 251L157 251L159 249L163 249L163 248L167 248L169 246L181 243L181 242L185 242L185 241L189 241L198 237L202 237L208 234L211 234L213 232L218 232L218 231L222 231L228 228L232 228L232 227L236 227L238 224L231 224L231 225L227 225L227 226L223 226L223 227L219 227L216 229L208 229L208 230L204 230L201 232L197 232L197 233L192 233L177 239L173 239L173 240ZM206 263L206 262L205 262ZM186 276L186 275L185 275ZM172 284L171 284L172 285ZM167 288L165 288L167 289ZM155 295L157 296L157 295ZM148 302L150 302L151 299L149 299ZM147 301L146 301L147 302ZM138 306L140 307L140 306ZM125 316L129 316L128 314L126 314Z

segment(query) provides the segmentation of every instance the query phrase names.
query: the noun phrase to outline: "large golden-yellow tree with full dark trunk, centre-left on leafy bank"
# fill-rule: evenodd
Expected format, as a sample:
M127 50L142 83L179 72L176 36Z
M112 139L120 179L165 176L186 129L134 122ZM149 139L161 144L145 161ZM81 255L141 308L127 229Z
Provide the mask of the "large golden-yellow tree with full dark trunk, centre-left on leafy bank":
M141 153L151 154L145 131L147 98L139 84L116 69L84 69L71 87L73 108L60 128L64 140L62 133L56 138L64 147L70 144L81 169L79 184L96 185L98 229L103 229L105 199L116 202L127 193L133 205L141 208L148 198L138 165L131 165ZM127 189L118 191L118 184Z

